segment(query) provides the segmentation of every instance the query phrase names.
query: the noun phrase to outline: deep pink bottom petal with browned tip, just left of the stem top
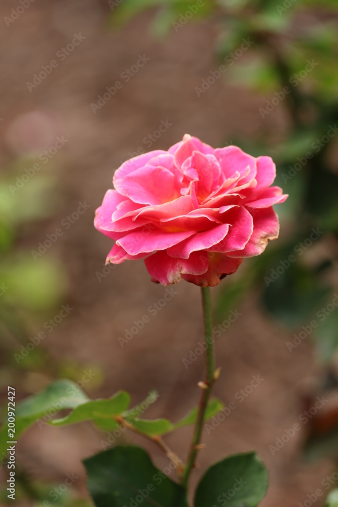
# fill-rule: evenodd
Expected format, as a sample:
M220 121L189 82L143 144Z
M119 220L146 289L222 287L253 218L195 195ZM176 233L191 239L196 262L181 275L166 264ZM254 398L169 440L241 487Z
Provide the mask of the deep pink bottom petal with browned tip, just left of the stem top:
M193 252L189 259L169 257L166 251L158 251L144 260L152 280L169 285L177 283L182 273L202 274L208 269L209 259L202 252Z

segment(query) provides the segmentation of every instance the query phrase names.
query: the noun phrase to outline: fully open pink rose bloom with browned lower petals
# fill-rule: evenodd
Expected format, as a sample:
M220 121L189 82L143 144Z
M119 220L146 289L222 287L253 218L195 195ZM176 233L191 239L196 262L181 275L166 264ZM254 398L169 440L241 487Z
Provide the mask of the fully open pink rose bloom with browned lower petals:
M169 150L124 162L96 210L115 241L106 263L144 259L152 280L214 286L278 237L276 167L236 146L211 148L185 134Z

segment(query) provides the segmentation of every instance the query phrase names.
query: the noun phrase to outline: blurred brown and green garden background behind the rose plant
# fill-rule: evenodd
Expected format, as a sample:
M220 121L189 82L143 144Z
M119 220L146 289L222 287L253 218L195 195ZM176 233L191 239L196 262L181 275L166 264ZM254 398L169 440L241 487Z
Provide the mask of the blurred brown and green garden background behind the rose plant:
M215 394L236 409L206 428L194 480L256 449L270 472L263 507L323 505L338 479L337 3L3 0L0 18L4 403L8 385L19 401L69 378L134 403L158 389L149 418L197 404L198 287L182 281L163 304L142 262L104 267L111 242L93 217L122 161L186 132L237 144L272 156L290 197L276 206L279 239L212 290ZM167 441L183 455L190 432ZM31 427L17 445L17 504L90 505L81 459L108 439L86 423Z

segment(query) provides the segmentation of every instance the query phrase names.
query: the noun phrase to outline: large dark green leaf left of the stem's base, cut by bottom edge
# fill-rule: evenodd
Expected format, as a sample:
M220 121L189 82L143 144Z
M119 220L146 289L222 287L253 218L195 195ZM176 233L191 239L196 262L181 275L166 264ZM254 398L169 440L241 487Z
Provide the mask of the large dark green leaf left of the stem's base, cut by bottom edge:
M171 481L139 447L117 446L84 460L96 507L188 507L184 489ZM210 505L210 504L208 504Z

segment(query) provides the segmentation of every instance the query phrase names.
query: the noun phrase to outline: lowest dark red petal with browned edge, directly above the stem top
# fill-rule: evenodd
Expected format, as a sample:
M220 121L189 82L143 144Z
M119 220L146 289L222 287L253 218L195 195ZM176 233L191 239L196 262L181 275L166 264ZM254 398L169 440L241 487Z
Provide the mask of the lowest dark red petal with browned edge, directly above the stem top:
M203 253L208 255L208 252ZM218 285L222 278L235 273L243 261L243 259L232 259L225 253L210 253L209 257L209 268L205 273L202 275L183 274L182 278L201 287L214 287Z

